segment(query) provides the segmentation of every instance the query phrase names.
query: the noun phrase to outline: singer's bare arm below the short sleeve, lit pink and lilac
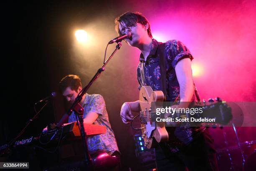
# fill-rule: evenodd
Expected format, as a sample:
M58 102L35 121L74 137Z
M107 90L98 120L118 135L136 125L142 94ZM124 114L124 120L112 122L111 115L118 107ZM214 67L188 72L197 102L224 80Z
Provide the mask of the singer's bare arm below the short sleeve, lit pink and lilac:
M179 82L180 101L190 102L194 91L191 60L189 58L180 60L175 66L175 72Z

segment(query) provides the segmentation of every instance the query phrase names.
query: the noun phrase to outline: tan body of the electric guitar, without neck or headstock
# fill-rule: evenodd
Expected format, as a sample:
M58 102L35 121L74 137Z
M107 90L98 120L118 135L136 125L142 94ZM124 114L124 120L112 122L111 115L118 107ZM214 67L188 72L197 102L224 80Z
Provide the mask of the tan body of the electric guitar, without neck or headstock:
M147 148L153 148L154 142L167 141L169 136L165 129L164 122L155 122L151 120L151 116L155 115L153 112L156 108L162 106L156 106L151 102L162 102L164 100L164 93L162 91L153 91L150 86L143 86L140 90L140 119L141 119L141 131L142 137Z

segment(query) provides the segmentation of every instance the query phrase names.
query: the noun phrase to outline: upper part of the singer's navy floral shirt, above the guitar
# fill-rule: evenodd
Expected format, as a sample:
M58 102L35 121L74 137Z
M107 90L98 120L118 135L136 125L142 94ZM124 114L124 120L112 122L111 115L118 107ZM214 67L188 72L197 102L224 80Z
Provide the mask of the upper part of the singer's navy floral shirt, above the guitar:
M156 90L161 89L161 74L159 61L160 58L156 56L156 49L159 42L153 39L151 51L144 61L143 54L140 55L140 63L137 68L137 79L139 83L138 89L142 86L149 85L151 88ZM175 66L177 63L184 58L193 59L187 47L180 41L171 40L166 42L165 47L166 56L166 101L174 102L179 96L179 82L175 73ZM144 73L145 80L143 76Z

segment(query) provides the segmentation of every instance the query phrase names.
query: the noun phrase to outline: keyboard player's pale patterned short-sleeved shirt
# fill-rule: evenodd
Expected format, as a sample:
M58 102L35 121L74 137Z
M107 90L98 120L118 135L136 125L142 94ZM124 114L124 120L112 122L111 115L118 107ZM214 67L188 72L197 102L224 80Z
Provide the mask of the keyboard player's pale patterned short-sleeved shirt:
M99 116L93 124L103 125L107 128L106 133L87 138L88 150L90 153L105 151L109 155L118 150L115 135L111 129L105 100L100 94L86 94L82 107L84 107L84 118L88 112L96 112ZM69 123L76 121L74 112L69 116Z

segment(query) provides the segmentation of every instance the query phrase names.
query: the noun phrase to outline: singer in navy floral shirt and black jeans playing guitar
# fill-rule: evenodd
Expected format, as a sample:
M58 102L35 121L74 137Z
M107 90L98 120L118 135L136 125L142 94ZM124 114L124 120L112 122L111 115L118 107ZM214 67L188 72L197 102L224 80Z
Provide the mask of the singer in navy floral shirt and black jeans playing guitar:
M141 51L137 68L138 89L148 85L164 92L166 101L200 101L192 78L192 54L178 40L165 43L156 41L151 34L150 24L141 13L124 13L115 19L119 35L131 33L125 39L128 45ZM163 77L163 79L161 79ZM186 108L176 105L173 107ZM139 102L125 102L120 117L129 123L139 112ZM168 115L166 115L168 117ZM169 140L156 148L158 171L218 171L213 140L205 127L166 127Z

